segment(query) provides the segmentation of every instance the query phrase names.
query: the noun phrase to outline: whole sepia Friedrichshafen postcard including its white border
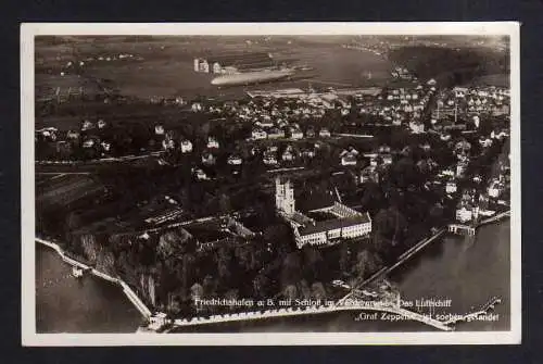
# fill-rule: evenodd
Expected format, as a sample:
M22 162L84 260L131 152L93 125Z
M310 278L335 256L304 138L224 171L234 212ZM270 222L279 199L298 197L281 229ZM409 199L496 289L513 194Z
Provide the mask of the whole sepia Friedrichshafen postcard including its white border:
M21 45L23 344L520 343L518 24Z

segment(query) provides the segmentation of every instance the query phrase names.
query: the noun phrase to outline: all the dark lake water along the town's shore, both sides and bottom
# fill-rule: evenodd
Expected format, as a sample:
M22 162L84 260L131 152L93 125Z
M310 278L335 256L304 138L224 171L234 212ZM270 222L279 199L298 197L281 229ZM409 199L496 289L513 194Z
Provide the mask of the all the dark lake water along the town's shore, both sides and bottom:
M519 242L516 242L519 243ZM476 237L435 240L389 277L403 300L450 299L451 307L420 309L425 314L466 314L500 297L495 321L459 323L457 330L509 329L509 221L480 228ZM36 302L38 332L132 332L139 312L123 291L92 276L75 279L56 253L37 246ZM230 323L190 331L420 331L435 330L416 322L356 321L356 313Z

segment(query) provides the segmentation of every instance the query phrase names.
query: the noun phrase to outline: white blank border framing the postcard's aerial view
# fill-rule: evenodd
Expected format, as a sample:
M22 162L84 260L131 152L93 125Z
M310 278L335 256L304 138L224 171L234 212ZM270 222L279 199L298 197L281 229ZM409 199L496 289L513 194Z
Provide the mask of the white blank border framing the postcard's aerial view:
M21 26L23 346L514 344L521 340L520 45L517 22L26 23ZM508 35L510 37L510 330L454 332L37 334L34 37L38 35Z

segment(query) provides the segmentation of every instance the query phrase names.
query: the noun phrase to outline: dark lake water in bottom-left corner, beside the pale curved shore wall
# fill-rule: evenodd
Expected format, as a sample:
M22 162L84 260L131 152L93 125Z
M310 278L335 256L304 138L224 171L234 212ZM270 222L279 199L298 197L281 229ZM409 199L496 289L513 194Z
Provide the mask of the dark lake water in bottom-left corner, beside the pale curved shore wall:
M56 252L36 243L37 332L134 332L139 311L103 279L76 279Z

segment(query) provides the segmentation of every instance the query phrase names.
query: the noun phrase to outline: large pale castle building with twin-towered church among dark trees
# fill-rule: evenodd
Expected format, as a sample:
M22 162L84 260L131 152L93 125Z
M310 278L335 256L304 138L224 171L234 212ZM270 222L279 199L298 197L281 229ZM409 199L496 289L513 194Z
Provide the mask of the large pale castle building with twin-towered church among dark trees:
M276 179L276 209L291 224L299 249L306 244L325 246L371 233L371 217L367 212L359 213L339 202L320 209L334 216L325 221L317 222L295 211L294 188L290 180Z

